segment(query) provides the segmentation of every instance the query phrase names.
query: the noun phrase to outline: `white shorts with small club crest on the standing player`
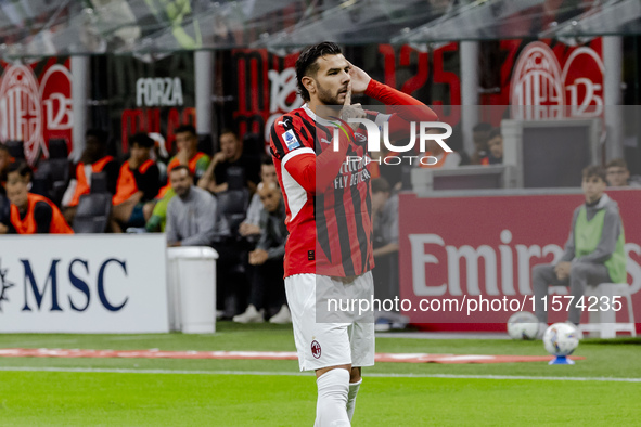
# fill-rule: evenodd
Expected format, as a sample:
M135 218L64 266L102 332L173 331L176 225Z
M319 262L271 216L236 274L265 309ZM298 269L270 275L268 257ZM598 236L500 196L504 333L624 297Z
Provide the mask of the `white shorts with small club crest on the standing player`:
M317 293L317 284L322 292ZM333 313L324 309L322 312L319 310L317 320L317 305L328 307L328 298L370 300L374 293L371 271L350 280L296 274L285 277L285 292L292 312L300 371L338 365L374 365L374 323L371 312L359 314L357 307L355 312L342 312L339 319L331 319Z

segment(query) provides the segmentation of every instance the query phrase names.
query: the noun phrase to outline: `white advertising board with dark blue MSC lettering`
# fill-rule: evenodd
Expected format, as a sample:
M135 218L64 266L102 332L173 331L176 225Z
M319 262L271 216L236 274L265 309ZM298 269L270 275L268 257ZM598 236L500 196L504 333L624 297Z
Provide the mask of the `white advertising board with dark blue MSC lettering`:
M169 332L164 234L2 236L0 248L0 333Z

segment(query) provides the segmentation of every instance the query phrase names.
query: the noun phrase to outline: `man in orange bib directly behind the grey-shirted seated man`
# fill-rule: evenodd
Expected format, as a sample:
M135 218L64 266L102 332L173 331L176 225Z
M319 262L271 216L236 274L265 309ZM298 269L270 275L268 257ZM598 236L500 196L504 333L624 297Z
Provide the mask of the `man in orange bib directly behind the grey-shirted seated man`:
M198 137L193 126L182 125L176 129L176 146L178 147L178 153L169 160L167 173L170 174L171 169L179 165L187 166L190 174L197 182L198 178L207 170L210 158L205 153L198 152ZM167 205L175 195L176 193L171 190L170 177L168 176L167 184L158 192L156 204L145 205L144 207L144 216L149 218L145 225L148 231L156 232L165 230Z

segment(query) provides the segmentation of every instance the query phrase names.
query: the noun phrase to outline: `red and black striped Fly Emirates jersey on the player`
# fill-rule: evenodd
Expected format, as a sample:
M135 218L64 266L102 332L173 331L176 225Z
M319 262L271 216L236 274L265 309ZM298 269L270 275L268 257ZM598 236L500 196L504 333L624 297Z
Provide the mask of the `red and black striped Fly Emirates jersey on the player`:
M418 103L374 80L366 94L397 101L388 104ZM407 125L396 115L367 114L379 127L389 120L394 128L393 119ZM351 276L374 267L367 133L363 128L355 133L343 126L336 133L339 150L335 151L334 129L334 124L317 117L307 105L284 114L271 127L270 150L290 232L285 277L304 273Z

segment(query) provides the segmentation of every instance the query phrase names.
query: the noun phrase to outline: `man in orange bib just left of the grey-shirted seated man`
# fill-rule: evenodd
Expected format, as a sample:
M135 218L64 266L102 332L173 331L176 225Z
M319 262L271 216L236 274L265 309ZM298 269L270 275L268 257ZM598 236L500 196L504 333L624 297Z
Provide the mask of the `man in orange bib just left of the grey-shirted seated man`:
M129 139L129 159L120 167L116 194L112 198L112 230L121 233L129 227L144 227L143 206L153 203L161 187L159 171L151 159L154 146L146 133L137 133ZM149 211L149 209L148 209Z

